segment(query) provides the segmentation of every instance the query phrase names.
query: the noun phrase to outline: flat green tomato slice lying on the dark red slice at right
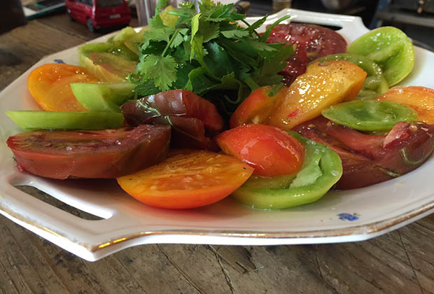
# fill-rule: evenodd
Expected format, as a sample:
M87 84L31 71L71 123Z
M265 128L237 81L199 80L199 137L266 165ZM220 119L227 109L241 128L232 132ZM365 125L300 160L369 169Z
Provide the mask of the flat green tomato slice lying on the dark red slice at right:
M417 113L390 101L354 100L330 106L321 114L339 125L359 131L388 131L399 122L411 123Z

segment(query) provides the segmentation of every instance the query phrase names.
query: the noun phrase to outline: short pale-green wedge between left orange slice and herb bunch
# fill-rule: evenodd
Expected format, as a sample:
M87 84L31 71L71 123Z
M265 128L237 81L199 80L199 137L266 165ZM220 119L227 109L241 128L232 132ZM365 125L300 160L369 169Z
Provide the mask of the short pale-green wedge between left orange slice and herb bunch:
M120 112L120 105L134 98L132 83L71 83L78 102L88 111Z

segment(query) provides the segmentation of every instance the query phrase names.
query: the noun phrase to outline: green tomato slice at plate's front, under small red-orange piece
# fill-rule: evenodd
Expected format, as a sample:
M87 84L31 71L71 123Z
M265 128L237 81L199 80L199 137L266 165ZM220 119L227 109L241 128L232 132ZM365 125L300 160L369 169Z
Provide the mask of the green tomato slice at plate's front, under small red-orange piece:
M289 176L252 176L232 193L239 202L258 209L286 209L314 202L342 176L342 162L334 151L290 132L306 148L302 169Z

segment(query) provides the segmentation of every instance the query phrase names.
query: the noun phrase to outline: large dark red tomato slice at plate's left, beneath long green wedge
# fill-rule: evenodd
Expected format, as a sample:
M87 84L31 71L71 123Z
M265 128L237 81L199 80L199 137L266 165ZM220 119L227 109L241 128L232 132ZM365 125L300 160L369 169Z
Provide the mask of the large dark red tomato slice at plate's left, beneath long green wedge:
M18 169L52 179L114 179L155 165L169 151L171 128L37 130L9 137Z

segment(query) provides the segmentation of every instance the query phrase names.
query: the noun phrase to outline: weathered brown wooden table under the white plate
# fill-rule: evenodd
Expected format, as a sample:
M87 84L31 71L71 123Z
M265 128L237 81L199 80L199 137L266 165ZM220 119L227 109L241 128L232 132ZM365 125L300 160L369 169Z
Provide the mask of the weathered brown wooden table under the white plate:
M66 14L0 35L0 90L44 55L100 35ZM1 216L0 293L434 293L433 241L431 215L358 243L156 244L87 262Z

